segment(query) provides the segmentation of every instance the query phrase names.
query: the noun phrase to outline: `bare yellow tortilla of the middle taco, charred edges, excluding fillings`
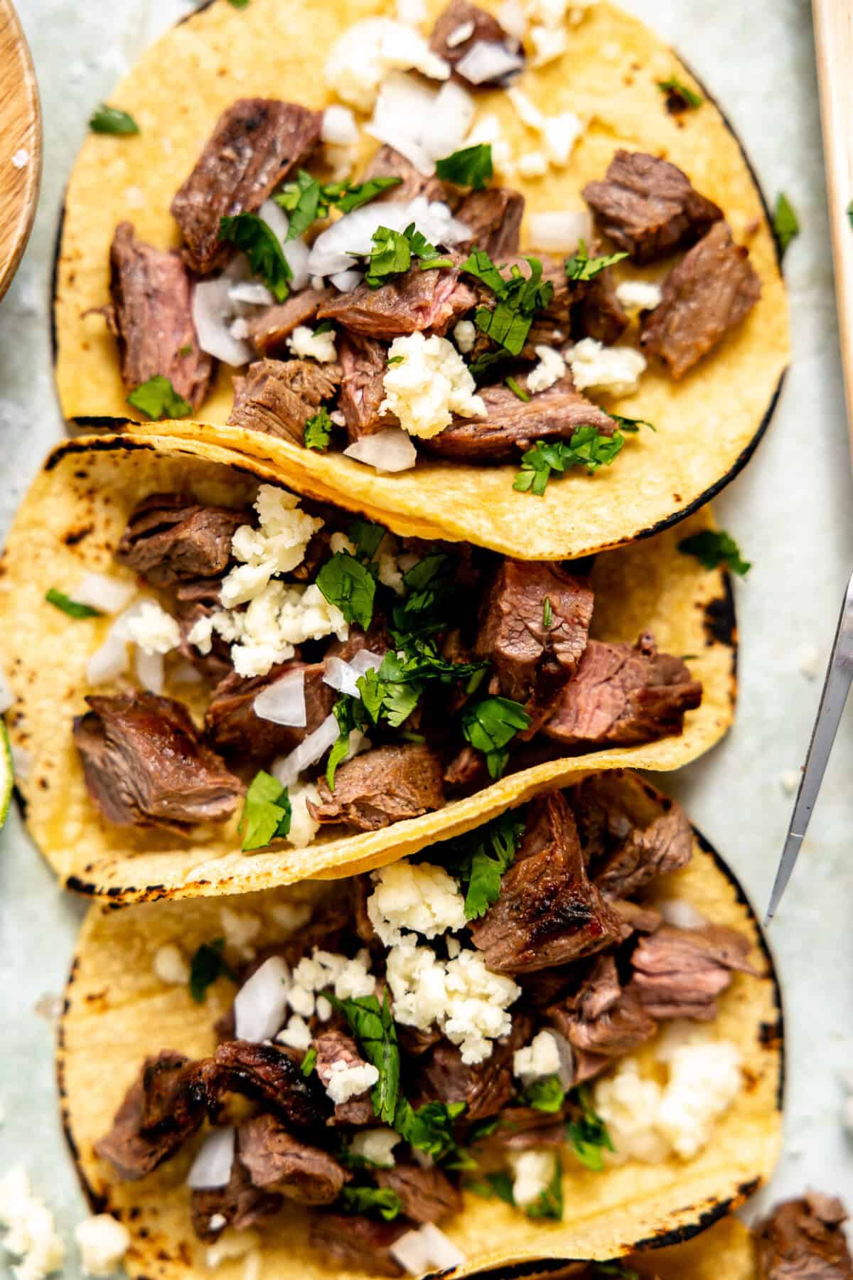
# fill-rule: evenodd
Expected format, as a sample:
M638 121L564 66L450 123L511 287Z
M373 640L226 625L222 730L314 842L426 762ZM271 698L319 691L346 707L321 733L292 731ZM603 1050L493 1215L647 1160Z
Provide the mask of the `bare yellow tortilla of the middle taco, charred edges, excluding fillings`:
M54 451L18 512L0 566L0 653L17 695L6 724L13 745L31 760L27 777L19 780L29 831L72 888L134 901L352 874L467 831L578 772L678 768L712 746L732 723L735 637L728 580L677 549L685 534L708 527L711 517L701 512L650 541L604 554L593 573L595 636L633 643L648 630L661 650L689 657L705 695L701 707L688 713L682 737L551 760L381 831L321 829L312 845L299 850L279 844L265 852L242 854L237 815L225 824L198 826L188 838L105 822L84 786L72 718L86 710L83 699L92 691L86 666L104 643L110 620L69 618L45 602L45 593L56 586L73 596L88 570L132 580L113 559L113 549L145 494L183 489L205 502L243 506L258 481L274 479L261 463L215 445L128 436L81 439ZM391 527L405 532L404 522L394 521ZM118 687L100 685L97 691ZM168 682L165 691L188 703L200 718L202 687Z

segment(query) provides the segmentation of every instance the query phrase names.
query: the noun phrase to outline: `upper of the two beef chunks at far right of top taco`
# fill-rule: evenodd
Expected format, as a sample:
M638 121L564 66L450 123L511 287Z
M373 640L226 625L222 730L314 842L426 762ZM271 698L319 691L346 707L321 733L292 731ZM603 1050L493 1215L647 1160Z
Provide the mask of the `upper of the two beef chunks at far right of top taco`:
M643 151L616 151L601 182L588 182L583 198L599 227L634 262L653 262L694 244L723 218L700 196L687 174Z

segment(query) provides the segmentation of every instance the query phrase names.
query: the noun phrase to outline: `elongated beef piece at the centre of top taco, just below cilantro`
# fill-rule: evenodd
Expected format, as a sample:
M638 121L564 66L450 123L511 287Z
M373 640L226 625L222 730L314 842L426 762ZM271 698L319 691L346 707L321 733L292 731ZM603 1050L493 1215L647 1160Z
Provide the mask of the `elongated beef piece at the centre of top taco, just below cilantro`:
M325 302L317 315L353 333L390 340L425 329L446 333L476 301L455 268L422 271L413 266L377 289L359 284L352 293L339 293Z

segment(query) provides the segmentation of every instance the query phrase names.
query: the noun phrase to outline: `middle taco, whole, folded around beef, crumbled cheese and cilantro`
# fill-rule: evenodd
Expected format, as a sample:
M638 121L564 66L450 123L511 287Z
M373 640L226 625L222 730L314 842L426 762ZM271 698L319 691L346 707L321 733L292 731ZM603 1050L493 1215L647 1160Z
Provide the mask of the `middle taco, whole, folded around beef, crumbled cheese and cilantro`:
M274 479L215 445L78 440L18 513L9 732L73 888L349 874L584 768L675 768L730 723L726 579L675 531L595 564L510 561Z

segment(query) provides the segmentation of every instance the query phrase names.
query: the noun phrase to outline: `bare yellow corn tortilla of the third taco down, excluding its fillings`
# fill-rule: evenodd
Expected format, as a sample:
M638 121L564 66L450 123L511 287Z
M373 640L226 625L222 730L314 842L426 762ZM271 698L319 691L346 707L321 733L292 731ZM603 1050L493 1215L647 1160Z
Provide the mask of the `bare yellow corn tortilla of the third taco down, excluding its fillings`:
M318 886L301 886L226 901L262 919L257 938L262 947L280 937L270 908L318 891ZM772 1171L781 1137L781 1019L772 963L758 924L730 872L698 835L693 860L661 877L655 884L657 895L692 901L712 922L752 938L749 959L760 977L734 975L720 997L712 1028L712 1034L740 1050L742 1092L692 1160L673 1157L656 1165L632 1160L595 1174L567 1153L561 1222L532 1221L499 1201L466 1193L463 1212L442 1224L468 1260L453 1275L545 1258L623 1257L638 1247L687 1239L742 1203ZM229 1007L234 987L220 979L210 988L207 1004L196 1005L185 987L164 986L152 961L165 943L178 943L189 956L201 942L221 934L223 905L207 899L118 913L93 906L72 968L59 1048L64 1124L90 1198L118 1213L132 1233L128 1271L133 1277L201 1280L206 1275L205 1249L191 1230L189 1192L183 1185L194 1143L139 1183L120 1181L111 1166L93 1155L92 1146L109 1129L146 1055L166 1047L189 1056L212 1051L212 1024ZM637 1057L643 1074L653 1073L653 1042ZM700 1239L691 1249L694 1272L678 1271L675 1254L670 1262L666 1251L660 1275L665 1280L677 1275L746 1280L753 1272L746 1266L743 1242L737 1243L737 1231L729 1234L739 1270L708 1268ZM307 1219L298 1206L262 1233L262 1280L330 1280L333 1274L341 1280L370 1280L358 1271L333 1272L324 1263L307 1244ZM217 1276L240 1280L242 1265L224 1263ZM652 1254L643 1263L643 1275L655 1274Z

